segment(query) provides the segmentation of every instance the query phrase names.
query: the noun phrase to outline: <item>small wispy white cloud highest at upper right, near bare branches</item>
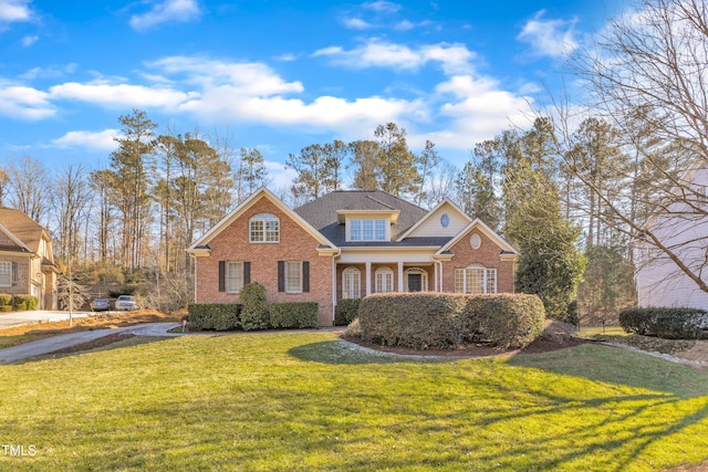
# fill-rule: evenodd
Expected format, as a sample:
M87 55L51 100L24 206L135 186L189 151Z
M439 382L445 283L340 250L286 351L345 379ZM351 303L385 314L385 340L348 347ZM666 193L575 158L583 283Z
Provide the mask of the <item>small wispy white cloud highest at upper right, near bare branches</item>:
M544 10L539 11L524 24L517 39L530 44L538 55L558 57L575 50L579 45L574 30L577 19L544 20Z

